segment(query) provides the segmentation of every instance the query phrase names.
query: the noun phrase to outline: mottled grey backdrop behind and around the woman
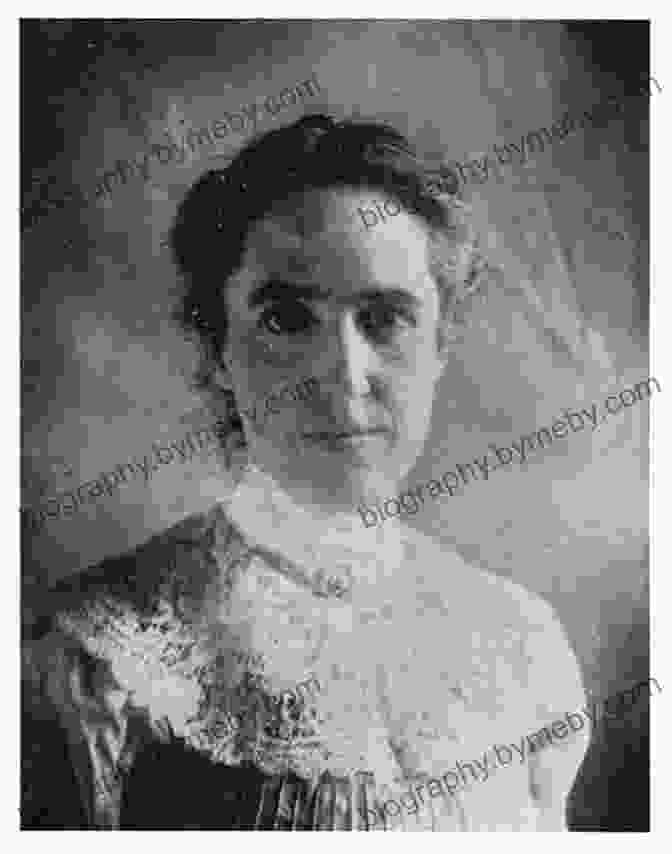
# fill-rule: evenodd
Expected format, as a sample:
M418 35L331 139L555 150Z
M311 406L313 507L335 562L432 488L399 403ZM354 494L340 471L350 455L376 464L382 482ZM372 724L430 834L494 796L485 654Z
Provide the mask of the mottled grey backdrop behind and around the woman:
M258 131L312 112L386 120L437 165L493 162L493 144L619 96L622 117L468 184L503 273L455 344L410 478L423 482L648 376L648 111L665 97L637 95L648 37L646 22L24 20L22 205L28 220L46 197L90 190L116 160L311 74L320 93L260 114ZM26 229L24 507L207 424L190 388L194 348L171 321L179 282L163 241L186 188L248 139L232 133L182 164L153 159L149 181L54 207ZM647 443L644 402L411 520L545 596L596 700L649 676ZM229 485L212 454L176 461L24 534L28 624L47 584ZM644 700L596 733L571 824L647 829Z

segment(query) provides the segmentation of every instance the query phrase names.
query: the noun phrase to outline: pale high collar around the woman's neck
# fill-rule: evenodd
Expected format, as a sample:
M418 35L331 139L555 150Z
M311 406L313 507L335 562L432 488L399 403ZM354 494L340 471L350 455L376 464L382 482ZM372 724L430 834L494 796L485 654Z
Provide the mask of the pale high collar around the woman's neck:
M381 580L403 560L402 529L396 520L366 528L356 511L321 516L296 503L257 466L247 467L226 511L250 545L298 564L311 578L326 572Z

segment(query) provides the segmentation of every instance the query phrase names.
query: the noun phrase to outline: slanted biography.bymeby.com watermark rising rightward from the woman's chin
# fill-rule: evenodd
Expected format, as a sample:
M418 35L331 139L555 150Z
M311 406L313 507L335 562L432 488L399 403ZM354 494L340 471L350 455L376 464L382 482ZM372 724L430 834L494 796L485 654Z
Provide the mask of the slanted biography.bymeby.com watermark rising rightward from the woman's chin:
M655 377L638 382L633 388L623 389L616 395L609 395L603 402L603 417L605 420L611 415L617 415L623 407L629 408L651 397L651 384L654 383L656 390L660 391L660 383ZM440 480L429 480L426 483L402 492L395 498L388 498L381 504L373 506L360 504L357 508L362 522L366 528L384 522L385 519L393 519L401 516L402 512L407 516L414 516L422 504L424 504L424 492L430 498L438 498L441 495L449 495L451 498L459 494L461 486L467 486L471 480L478 480L478 472L487 480L490 473L500 468L506 468L514 460L521 465L528 459L530 451L544 449L551 445L556 439L566 438L570 430L572 433L580 433L588 424L593 430L597 429L599 423L597 404L593 403L590 409L581 409L580 412L565 410L550 427L542 427L533 433L521 436L519 441L511 442L511 446L499 447L490 444L493 456L497 463L490 459L490 455L477 457L469 463L458 463L454 471L447 471ZM394 512L392 512L394 510Z

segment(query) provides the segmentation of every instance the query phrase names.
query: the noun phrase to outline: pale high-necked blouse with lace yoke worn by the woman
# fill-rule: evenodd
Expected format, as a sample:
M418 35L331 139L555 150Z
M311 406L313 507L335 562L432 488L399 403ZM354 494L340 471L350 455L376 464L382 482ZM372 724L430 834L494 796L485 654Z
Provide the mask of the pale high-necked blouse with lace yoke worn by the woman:
M123 826L135 757L166 733L299 781L291 821L314 829L541 829L547 757L578 757L571 778L585 751L566 725L577 663L547 604L396 520L326 526L259 469L61 585L54 612L27 676L67 732L92 827Z

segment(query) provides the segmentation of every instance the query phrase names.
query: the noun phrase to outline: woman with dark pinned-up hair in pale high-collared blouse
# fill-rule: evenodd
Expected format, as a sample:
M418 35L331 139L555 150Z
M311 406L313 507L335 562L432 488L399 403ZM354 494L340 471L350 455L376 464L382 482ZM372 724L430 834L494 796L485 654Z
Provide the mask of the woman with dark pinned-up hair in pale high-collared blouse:
M210 513L60 585L28 647L81 823L566 829L586 732L525 741L583 701L550 608L357 512L399 494L487 272L463 205L396 131L310 116L199 180L172 247L248 462Z

